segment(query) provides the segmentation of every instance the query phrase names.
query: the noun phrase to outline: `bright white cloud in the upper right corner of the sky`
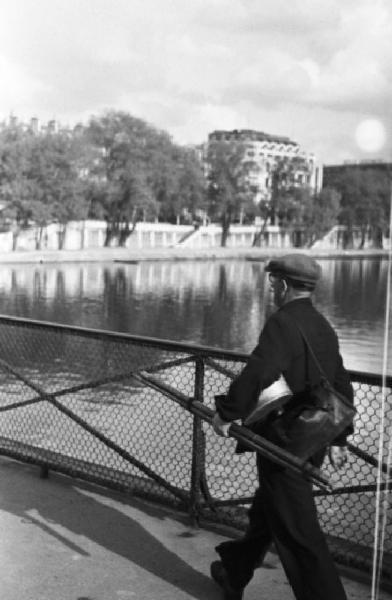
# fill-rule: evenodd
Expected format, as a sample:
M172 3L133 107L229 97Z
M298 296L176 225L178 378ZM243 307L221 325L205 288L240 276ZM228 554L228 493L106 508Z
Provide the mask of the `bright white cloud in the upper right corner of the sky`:
M224 100L247 99L265 106L294 102L338 111L385 110L392 97L391 11L383 2L366 0L357 3L355 10L343 6L328 52L324 41L322 59L312 51L315 32L311 29L294 44L294 51L290 43L262 45L223 91Z

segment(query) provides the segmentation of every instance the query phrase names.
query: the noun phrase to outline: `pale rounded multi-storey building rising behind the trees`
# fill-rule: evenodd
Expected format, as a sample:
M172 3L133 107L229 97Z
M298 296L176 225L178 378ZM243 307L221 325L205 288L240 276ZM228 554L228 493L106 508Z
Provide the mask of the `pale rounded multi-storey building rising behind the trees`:
M254 202L271 199L272 174L274 168L283 159L291 159L295 164L294 171L287 180L290 186L307 186L318 190L318 169L315 157L301 150L297 142L288 137L270 135L252 129L234 129L232 131L213 131L208 136L211 142L239 142L246 147L246 158L254 163L249 172L249 183L255 192Z

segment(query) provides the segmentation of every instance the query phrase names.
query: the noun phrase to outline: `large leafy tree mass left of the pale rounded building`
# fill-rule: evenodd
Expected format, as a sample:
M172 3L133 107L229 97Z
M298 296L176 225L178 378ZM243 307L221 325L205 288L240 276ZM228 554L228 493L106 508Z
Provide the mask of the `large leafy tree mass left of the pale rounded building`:
M124 245L140 219L189 220L204 207L195 152L127 113L108 112L73 132L34 134L15 123L0 129L3 228L61 225L87 217L107 222L106 244Z

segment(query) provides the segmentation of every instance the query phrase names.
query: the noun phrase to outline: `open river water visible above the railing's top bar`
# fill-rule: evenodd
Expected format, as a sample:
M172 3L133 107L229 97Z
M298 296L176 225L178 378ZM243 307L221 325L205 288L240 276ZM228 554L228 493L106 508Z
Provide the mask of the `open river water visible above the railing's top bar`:
M338 332L346 366L381 373L388 261L319 262L323 278L314 301ZM264 266L243 260L1 265L0 313L249 352L273 310Z

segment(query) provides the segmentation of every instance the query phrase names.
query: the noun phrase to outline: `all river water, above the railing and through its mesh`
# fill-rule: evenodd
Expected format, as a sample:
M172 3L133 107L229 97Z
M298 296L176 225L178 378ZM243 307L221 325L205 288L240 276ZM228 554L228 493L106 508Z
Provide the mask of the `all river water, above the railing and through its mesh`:
M338 332L346 366L356 371L381 373L387 260L319 262L323 277L314 301ZM264 266L263 262L256 261L1 265L0 313L249 352L256 344L266 318L274 310ZM3 346L4 359L7 359L7 340L3 340ZM22 347L15 344L17 349ZM35 356L34 347L31 357L30 346L26 348L24 351L29 355L32 372L26 374L25 369L24 374L37 380L38 373L40 381L42 365L38 370L35 365L36 358L41 360L40 355ZM58 389L71 382L84 382L85 376L87 380L96 378L94 361L86 362L90 369L94 367L94 372L86 375L85 363L75 365L76 357L72 359L74 362L71 360L75 372L70 372L61 366L62 348L55 350L53 357L48 357L45 351L42 353L45 360L51 361L45 365L46 387ZM18 353L17 359L22 360L23 356ZM391 368L389 372L392 374ZM19 400L20 388L13 385L13 377L9 376L8 383L3 401L10 402L13 392L15 400ZM171 400L159 398L159 402L151 402L150 396L143 396L141 387L127 388L125 396L123 392L120 387L115 390L103 386L100 390L75 394L66 400L66 404L114 442L129 444L135 456L147 461L160 476L173 485L188 489L192 436L184 432L192 431L190 416L181 412ZM371 411L369 402L373 403ZM374 392L369 398L362 398L353 439L355 445L373 455L378 446L379 418L374 404ZM83 460L87 451L89 459L94 458L93 462L101 461L99 464L109 468L131 472L126 461L119 463L115 453L96 447L96 441L90 438L87 440L86 432L72 420L67 420L65 426L58 414L54 418L45 403L23 410L27 411L28 418L22 409L3 414L0 431L3 436ZM171 432L171 443L162 435L162 415ZM364 415L363 419L361 415ZM150 435L141 427L144 422L148 423ZM129 427L125 442L124 423ZM386 421L386 431L388 426L389 421ZM173 432L179 431L181 435L175 437ZM151 439L153 443L148 441ZM245 460L244 455L233 459L232 451L227 453L224 446L226 440L216 438L210 428L206 430L206 440L206 472L212 494L218 498L251 495L256 485L253 462ZM173 464L177 465L175 470ZM358 464L361 465L360 472ZM139 476L139 471L135 471ZM331 469L326 473L339 485L372 482L375 477L370 467L355 458L342 475ZM348 500L343 498L344 502L341 498L336 502L320 499L323 527L333 535L350 537L371 546L374 495L351 494ZM391 550L389 537L388 533L387 551Z

